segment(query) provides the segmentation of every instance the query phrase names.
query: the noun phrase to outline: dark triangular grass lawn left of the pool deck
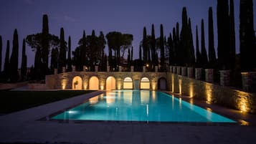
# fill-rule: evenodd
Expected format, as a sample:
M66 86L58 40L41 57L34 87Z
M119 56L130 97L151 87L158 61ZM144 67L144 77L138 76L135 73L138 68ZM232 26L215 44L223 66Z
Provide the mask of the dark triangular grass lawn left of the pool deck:
M60 90L60 91L0 91L0 114L24 110L49 102L75 97L92 90Z

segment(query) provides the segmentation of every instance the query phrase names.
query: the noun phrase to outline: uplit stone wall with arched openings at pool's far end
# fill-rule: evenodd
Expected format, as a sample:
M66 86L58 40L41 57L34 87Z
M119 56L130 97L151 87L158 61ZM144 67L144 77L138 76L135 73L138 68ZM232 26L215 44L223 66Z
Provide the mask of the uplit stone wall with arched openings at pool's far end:
M115 77L115 85L117 89L123 89L123 80L125 77L131 77L134 82L141 81L143 77L148 77L151 90L157 90L158 80L166 79L166 72L65 72L57 75L47 75L46 85L49 89L72 89L72 80L78 76L82 78L82 89L89 88L90 77L98 77L99 87L105 90L106 80L108 77ZM166 82L167 83L167 82Z

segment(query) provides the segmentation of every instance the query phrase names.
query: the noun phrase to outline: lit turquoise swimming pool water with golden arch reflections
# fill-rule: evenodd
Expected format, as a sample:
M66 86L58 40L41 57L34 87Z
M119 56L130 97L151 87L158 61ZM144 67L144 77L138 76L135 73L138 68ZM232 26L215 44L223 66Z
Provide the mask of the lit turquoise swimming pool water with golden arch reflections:
M114 90L52 117L54 120L235 123L163 92Z

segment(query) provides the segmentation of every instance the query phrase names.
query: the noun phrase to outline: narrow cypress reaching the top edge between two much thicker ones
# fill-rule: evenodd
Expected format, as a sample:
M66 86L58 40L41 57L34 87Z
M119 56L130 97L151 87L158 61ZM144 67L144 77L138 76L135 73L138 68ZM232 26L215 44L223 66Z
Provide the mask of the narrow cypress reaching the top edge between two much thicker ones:
M234 33L234 1L229 1L229 32L230 32L230 69L234 70L235 65L235 33Z

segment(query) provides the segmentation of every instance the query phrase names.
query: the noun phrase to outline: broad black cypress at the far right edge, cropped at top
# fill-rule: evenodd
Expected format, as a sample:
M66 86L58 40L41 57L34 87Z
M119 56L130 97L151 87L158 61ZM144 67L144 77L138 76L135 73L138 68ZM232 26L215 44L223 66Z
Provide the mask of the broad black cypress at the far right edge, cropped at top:
M243 72L256 67L255 29L252 0L240 0L240 57Z

